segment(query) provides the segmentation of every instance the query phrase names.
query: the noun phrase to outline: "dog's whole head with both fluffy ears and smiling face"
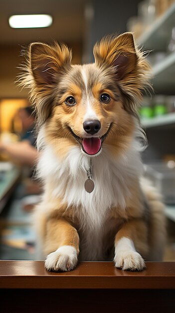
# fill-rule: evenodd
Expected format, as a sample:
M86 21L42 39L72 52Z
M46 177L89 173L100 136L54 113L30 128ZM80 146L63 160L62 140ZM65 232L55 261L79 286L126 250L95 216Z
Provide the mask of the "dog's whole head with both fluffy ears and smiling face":
M150 66L133 34L103 38L94 46L95 63L71 65L64 44L29 47L22 84L30 88L38 124L63 156L78 145L98 155L103 147L119 153L131 141Z

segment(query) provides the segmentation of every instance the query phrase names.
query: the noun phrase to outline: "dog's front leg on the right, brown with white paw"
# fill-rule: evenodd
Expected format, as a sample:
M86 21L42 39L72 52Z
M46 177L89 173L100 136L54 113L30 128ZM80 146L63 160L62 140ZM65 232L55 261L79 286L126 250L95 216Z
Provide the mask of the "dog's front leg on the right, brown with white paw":
M148 253L148 229L141 219L126 222L115 237L114 262L123 270L142 270L145 267L143 256ZM138 253L139 251L140 253Z

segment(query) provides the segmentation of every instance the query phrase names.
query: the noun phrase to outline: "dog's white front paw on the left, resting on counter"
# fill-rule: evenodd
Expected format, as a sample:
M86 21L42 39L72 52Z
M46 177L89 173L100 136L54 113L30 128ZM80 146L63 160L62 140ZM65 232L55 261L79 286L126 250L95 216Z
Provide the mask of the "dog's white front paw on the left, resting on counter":
M53 271L72 270L78 262L77 251L71 245L63 245L47 255L45 268Z

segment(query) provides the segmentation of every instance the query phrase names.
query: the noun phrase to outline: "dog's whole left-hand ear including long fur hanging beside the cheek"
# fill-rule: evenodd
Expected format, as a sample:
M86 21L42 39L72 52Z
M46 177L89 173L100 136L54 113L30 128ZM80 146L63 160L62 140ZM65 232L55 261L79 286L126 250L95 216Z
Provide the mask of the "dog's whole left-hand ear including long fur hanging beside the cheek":
M29 88L30 101L36 112L37 123L42 125L50 116L53 107L53 87L60 75L71 66L72 53L65 44L55 42L52 46L45 43L31 43L18 75L19 86Z

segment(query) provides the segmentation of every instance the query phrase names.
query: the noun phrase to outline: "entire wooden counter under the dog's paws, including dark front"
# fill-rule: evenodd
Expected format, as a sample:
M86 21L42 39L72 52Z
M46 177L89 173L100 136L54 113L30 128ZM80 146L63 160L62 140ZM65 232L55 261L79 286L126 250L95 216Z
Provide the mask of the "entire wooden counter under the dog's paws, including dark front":
M175 262L148 262L142 272L113 262L80 262L47 272L43 261L0 261L2 313L175 312Z

